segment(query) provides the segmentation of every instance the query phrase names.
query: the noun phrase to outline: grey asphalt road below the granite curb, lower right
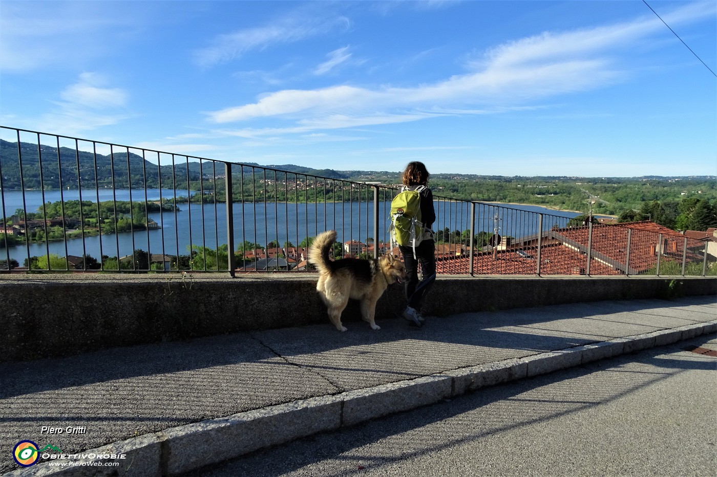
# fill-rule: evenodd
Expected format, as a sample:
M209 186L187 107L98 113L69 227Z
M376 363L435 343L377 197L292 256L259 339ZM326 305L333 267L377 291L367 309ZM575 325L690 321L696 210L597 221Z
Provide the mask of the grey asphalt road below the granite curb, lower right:
M711 339L711 341L710 341ZM462 395L192 476L717 476L714 335Z

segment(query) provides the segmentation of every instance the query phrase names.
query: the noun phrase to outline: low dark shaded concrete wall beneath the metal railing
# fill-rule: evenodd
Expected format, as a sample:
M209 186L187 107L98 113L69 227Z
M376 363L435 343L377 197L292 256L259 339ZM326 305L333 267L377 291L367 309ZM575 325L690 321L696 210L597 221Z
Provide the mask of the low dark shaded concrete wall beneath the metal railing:
M326 323L328 332L315 281L315 274L3 275L0 362L302 324ZM717 278L441 277L426 312L704 294L717 294ZM395 319L403 305L402 288L391 286L376 319ZM358 308L351 302L344 322L359 320Z

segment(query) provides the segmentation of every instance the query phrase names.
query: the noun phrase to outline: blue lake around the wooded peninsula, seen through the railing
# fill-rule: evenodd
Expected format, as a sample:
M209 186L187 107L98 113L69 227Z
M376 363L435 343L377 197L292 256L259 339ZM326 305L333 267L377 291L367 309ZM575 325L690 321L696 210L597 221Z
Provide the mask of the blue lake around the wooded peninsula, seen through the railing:
M96 202L130 200L128 189L100 189L98 193L82 191L83 201ZM148 189L150 201L174 197L171 189ZM176 191L177 196L187 196L187 191ZM45 191L44 201L59 201L60 191ZM144 201L144 190L131 191L134 201ZM78 191L62 191L65 201L77 200ZM3 195L6 217L18 208L34 212L43 203L42 191L22 192L5 191ZM151 254L188 254L189 245L206 246L217 249L227 243L227 213L224 203L199 204L179 203L181 210L149 213L161 228L134 232L114 233L102 236L87 236L67 241L33 243L29 247L22 244L4 249L0 245L0 260L15 259L22 266L28 256L57 254L59 256L89 254L96 259L101 256L125 256L135 249L143 249ZM379 233L381 241L388 241L391 204L379 203ZM450 231L464 231L470 228L470 203L445 200L435 201L437 220L433 228L436 231L449 228ZM478 203L475 206L475 232L493 232L497 228L501 235L513 237L527 236L538 232L538 214L543 214L543 230L554 225L564 226L578 213L553 211L539 206L504 206L502 204ZM270 241L284 244L290 241L300 244L304 238L333 228L338 231L338 241L374 238L374 211L372 204L366 203L235 203L234 204L234 243L250 241L265 246Z

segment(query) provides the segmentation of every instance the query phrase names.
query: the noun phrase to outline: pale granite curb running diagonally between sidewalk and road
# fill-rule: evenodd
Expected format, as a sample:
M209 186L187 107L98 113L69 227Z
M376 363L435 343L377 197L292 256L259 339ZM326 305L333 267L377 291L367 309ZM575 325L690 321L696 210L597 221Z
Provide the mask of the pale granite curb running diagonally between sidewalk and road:
M480 387L542 375L587 362L673 344L717 332L717 320L595 342L564 350L463 367L337 395L311 397L223 418L181 425L121 440L83 454L124 454L119 467L92 466L97 459L58 467L44 462L5 476L179 476L260 448L287 443L437 403Z

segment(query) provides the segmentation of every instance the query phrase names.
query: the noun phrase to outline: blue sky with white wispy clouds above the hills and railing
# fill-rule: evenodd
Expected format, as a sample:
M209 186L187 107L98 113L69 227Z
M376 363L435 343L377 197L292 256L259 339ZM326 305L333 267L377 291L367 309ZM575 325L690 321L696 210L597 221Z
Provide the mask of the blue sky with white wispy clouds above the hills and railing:
M647 3L717 72L716 1ZM717 77L640 0L0 1L0 123L262 165L717 174Z

